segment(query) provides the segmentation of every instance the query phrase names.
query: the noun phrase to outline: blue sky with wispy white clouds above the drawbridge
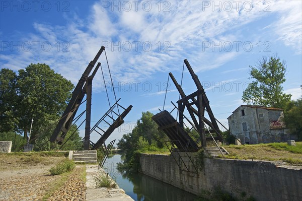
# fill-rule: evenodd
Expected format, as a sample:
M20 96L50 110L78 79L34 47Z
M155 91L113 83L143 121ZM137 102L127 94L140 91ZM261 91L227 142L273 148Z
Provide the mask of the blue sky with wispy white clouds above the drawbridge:
M278 53L287 61L285 93L301 96L301 1L0 1L0 68L46 63L75 85L104 45L117 97L133 105L109 140L131 131L141 112L163 108L168 73L181 82L183 60L205 88L215 117L239 107L249 65ZM105 54L102 62L110 82ZM165 109L178 100L170 80ZM196 91L185 68L183 89ZM109 98L114 102L112 86ZM109 108L101 71L93 80L92 124ZM83 111L84 107L81 108ZM84 126L80 128L84 135ZM93 141L98 139L93 134ZM108 141L109 141L108 140Z

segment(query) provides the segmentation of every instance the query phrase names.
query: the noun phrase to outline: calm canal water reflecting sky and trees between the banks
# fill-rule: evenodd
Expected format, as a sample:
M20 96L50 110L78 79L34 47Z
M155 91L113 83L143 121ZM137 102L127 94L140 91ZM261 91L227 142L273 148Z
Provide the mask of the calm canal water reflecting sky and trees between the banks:
M121 162L121 155L108 157L104 169L110 175L115 174L119 187L136 201L191 201L197 198L191 193L144 174L130 174L117 164Z

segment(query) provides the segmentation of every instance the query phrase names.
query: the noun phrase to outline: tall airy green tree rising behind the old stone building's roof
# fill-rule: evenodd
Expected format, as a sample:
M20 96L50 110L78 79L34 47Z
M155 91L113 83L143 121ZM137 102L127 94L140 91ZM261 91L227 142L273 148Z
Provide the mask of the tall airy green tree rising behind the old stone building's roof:
M285 108L291 94L284 94L282 83L286 81L286 62L274 56L259 59L255 67L250 66L250 78L254 79L243 92L242 100L248 105Z

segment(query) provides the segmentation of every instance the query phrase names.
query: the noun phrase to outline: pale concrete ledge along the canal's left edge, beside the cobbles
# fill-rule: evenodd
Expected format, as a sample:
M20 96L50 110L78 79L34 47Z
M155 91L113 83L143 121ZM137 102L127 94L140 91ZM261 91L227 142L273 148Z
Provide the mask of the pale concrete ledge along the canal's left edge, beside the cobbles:
M106 174L98 165L86 165L86 200L88 201L134 201L125 191L117 185L117 188L98 188L94 181L94 175Z

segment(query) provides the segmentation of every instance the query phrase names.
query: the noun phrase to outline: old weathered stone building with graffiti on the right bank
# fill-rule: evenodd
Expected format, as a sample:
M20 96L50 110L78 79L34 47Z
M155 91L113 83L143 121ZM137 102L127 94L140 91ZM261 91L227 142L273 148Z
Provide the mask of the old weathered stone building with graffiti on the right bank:
M282 117L283 110L279 108L241 105L228 117L229 129L244 144L295 140Z

